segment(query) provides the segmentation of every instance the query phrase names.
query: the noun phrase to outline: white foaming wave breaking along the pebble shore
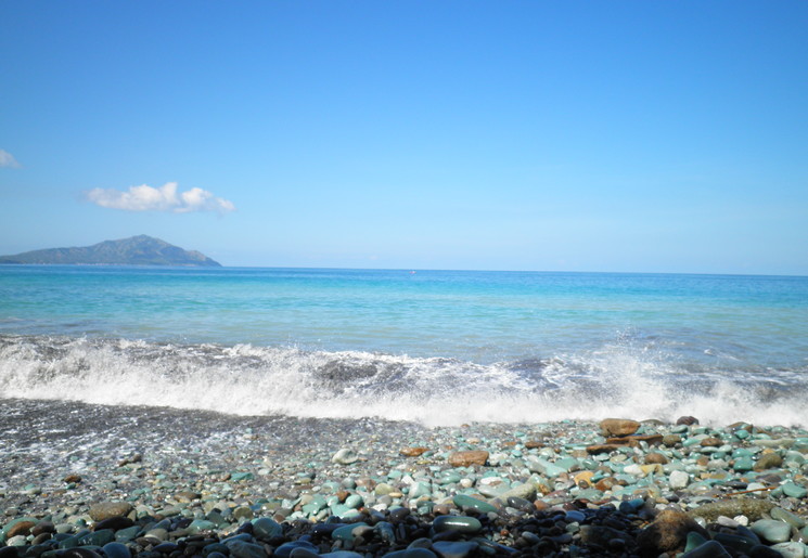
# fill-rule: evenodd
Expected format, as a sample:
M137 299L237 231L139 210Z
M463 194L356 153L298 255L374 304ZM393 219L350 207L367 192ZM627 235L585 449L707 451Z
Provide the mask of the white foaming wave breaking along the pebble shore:
M719 425L806 426L805 374L688 369L630 345L483 365L294 347L0 337L2 398L427 426L685 414Z

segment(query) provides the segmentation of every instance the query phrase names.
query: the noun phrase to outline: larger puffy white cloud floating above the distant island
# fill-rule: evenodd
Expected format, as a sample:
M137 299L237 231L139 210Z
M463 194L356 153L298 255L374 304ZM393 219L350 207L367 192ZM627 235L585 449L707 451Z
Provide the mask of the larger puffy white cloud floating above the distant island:
M131 186L126 192L112 187L97 187L87 193L87 199L101 207L125 209L127 211L174 211L175 213L218 211L219 213L228 213L235 210L232 202L216 197L201 187L192 187L178 194L176 182L167 182L161 187L142 184Z

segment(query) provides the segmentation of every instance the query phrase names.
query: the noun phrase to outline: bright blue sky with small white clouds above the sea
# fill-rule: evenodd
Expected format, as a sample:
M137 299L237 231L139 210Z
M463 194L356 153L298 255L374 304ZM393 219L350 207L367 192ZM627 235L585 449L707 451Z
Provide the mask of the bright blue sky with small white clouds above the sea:
M0 2L0 254L808 275L808 2Z

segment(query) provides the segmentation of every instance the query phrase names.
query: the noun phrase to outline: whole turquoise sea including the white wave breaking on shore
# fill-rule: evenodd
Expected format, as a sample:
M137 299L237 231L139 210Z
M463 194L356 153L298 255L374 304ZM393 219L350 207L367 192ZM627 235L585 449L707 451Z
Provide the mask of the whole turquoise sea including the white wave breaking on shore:
M808 427L808 277L2 265L0 402Z

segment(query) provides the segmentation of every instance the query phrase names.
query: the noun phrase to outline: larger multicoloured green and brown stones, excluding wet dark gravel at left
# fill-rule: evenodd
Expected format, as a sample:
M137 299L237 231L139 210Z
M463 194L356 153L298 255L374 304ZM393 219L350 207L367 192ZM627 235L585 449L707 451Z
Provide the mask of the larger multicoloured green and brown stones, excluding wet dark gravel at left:
M117 503L91 504L81 471L52 491L60 509L38 486L0 494L17 498L0 558L808 556L805 430L692 417L525 430L438 429L207 477L130 456L106 484Z

